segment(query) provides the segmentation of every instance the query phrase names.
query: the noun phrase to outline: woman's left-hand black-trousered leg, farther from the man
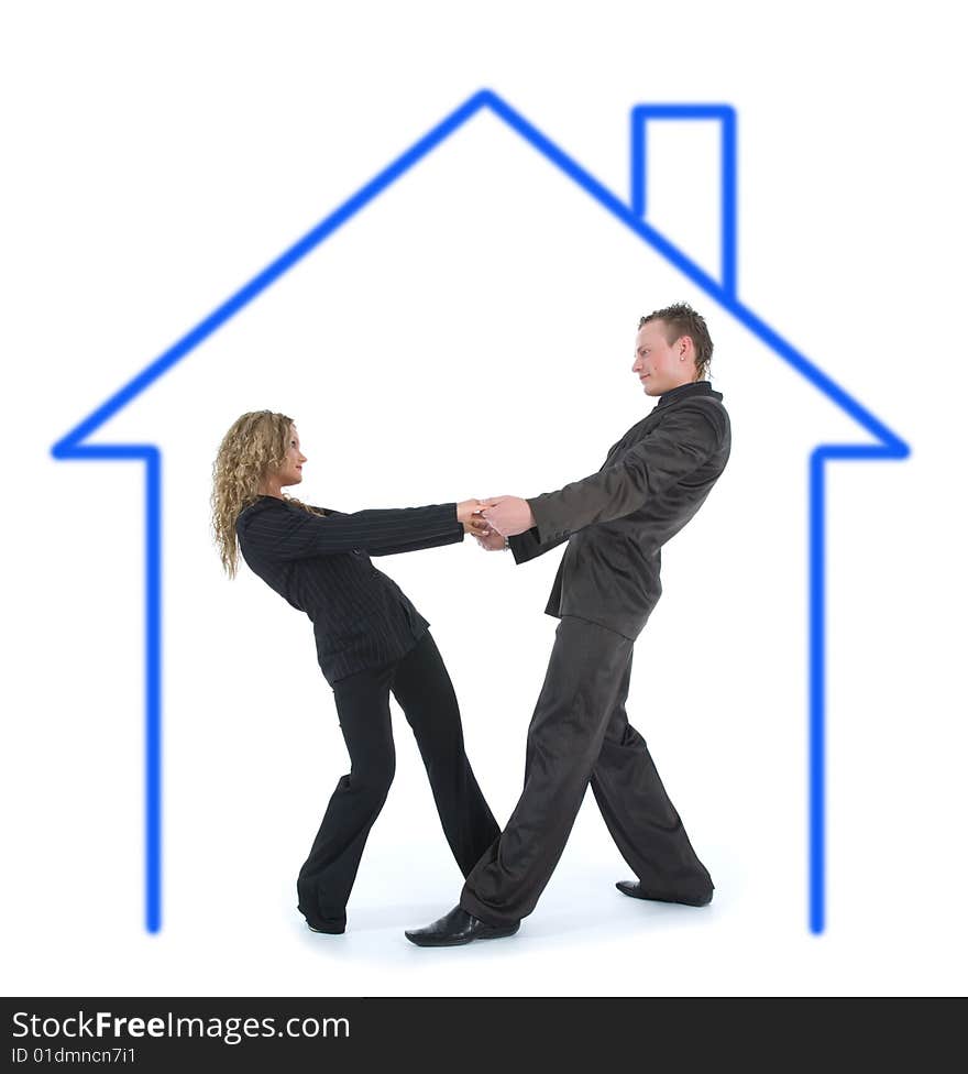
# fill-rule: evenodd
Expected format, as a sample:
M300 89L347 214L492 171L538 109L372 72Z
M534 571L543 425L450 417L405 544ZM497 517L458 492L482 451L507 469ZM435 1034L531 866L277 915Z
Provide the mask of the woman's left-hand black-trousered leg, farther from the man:
M351 768L337 783L296 885L299 910L321 932L346 927L346 900L363 847L393 781L392 675L393 666L360 671L333 686Z

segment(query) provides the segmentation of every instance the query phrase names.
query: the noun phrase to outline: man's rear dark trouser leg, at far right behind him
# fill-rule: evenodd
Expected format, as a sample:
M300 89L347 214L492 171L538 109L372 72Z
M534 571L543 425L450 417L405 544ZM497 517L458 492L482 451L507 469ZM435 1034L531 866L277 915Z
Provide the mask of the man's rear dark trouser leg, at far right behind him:
M628 722L631 661L592 772L592 791L622 856L640 880L638 898L704 905L713 881L696 857L642 736Z

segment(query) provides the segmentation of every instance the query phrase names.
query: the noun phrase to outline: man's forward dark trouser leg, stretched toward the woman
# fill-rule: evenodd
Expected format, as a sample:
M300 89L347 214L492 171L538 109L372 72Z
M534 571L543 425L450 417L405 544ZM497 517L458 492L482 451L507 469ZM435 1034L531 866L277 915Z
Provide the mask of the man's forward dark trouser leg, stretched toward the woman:
M562 618L528 730L525 788L468 877L460 902L468 913L501 927L535 909L582 804L631 648L620 634Z

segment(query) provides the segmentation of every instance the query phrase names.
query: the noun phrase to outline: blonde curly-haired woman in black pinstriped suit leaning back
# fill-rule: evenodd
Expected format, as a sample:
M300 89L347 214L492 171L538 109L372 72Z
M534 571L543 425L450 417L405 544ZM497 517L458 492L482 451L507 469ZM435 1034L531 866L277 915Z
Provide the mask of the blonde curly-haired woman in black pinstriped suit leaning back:
M330 798L297 880L315 932L341 933L370 829L394 775L389 695L417 739L454 858L466 877L497 826L464 753L460 710L429 624L370 556L416 551L486 530L476 500L342 514L284 495L306 456L292 418L243 414L213 465L212 524L230 578L249 567L312 621L332 687L350 772Z

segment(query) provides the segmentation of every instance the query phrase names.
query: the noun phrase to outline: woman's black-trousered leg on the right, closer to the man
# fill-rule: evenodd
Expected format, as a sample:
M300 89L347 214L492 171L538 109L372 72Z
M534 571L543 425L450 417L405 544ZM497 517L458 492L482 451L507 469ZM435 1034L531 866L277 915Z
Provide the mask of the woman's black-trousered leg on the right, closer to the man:
M501 829L464 753L458 699L429 632L397 666L393 692L417 739L447 841L466 876Z

